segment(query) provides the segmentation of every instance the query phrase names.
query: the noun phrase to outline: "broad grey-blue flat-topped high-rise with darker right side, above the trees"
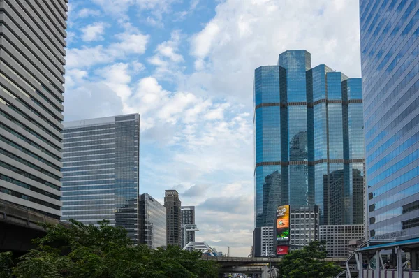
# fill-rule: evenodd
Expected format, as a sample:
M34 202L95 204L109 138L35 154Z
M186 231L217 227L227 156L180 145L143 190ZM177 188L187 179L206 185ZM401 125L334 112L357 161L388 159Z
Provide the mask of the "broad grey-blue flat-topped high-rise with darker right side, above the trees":
M64 123L63 220L125 228L138 242L140 115Z

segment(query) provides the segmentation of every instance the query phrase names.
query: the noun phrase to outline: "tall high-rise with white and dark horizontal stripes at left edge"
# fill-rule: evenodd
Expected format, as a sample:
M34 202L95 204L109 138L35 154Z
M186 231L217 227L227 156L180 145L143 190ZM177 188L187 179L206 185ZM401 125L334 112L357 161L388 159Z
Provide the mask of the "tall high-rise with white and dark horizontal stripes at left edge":
M59 219L67 1L0 10L0 200Z

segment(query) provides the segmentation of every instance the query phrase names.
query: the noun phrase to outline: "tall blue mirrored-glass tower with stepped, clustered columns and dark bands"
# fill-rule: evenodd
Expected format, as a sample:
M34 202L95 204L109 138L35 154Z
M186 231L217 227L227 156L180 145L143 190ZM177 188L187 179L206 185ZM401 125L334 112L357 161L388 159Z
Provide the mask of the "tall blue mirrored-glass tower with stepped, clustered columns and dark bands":
M277 205L318 205L321 224L362 224L364 138L360 78L311 68L305 50L255 70L255 225Z

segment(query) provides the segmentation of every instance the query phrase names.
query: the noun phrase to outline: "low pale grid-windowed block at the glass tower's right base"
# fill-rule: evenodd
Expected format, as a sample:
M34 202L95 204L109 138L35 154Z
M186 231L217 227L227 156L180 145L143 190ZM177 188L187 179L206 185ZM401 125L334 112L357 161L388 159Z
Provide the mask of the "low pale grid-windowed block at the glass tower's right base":
M326 242L328 257L346 258L349 256L353 241L363 240L365 226L360 225L322 225L320 240Z

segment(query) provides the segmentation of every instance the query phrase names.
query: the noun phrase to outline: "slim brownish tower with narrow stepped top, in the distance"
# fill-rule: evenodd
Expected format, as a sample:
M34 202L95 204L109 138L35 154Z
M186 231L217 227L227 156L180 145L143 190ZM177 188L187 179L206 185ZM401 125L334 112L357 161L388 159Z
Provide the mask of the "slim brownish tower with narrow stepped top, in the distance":
M166 207L166 237L167 245L182 244L182 217L179 193L176 190L166 190L164 196L164 206Z

